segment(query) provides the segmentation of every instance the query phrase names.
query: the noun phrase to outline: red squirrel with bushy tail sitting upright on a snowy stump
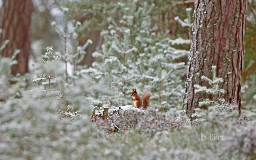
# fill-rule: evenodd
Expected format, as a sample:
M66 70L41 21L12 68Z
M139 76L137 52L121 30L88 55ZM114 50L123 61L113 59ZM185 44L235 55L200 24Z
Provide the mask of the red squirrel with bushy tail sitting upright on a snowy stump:
M142 98L141 98L141 96L137 94L136 88L135 90L132 89L132 92L131 92L131 100L133 100L132 105L135 108L140 108L141 106L143 106L144 109L146 109L150 104L150 100L149 100L150 96L152 96L152 94L149 92L146 92L142 95Z

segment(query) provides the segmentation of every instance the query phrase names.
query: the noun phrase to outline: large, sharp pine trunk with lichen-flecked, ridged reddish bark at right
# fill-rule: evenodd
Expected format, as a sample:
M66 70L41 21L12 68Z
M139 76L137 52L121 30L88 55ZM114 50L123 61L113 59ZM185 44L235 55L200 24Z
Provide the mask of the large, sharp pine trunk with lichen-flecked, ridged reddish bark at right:
M241 110L241 74L243 67L244 32L246 29L247 0L196 0L193 13L190 62L186 80L183 109L188 115L207 94L195 94L194 85L207 86L201 80L210 78L211 66L217 66L219 85L226 93L226 102ZM216 98L218 96L215 96ZM212 97L211 97L212 98Z

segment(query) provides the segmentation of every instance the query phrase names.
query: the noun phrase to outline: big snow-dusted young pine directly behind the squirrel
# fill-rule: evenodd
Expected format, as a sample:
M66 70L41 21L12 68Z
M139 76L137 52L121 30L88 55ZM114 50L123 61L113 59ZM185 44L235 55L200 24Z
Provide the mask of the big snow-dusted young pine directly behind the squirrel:
M97 61L93 67L83 70L95 81L106 79L105 88L112 94L93 93L89 98L100 106L131 104L130 89L138 88L141 95L152 92L151 103L166 109L181 105L186 65L175 61L188 56L189 52L171 45L189 44L189 40L172 40L168 38L168 31L162 36L156 35L157 27L152 27L148 14L154 3L143 2L138 8L133 7L135 4L137 1L118 3L122 19L118 22L108 19L108 30L102 32L102 49L93 53Z

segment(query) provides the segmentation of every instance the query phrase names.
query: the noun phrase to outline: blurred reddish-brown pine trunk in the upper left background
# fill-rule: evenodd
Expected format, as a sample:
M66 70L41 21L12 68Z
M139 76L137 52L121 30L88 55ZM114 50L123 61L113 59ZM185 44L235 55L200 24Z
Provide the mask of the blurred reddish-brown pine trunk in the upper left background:
M0 28L2 36L0 44L9 40L8 45L3 49L2 56L11 57L15 49L20 49L17 55L17 65L11 67L11 73L25 74L28 72L28 60L30 53L30 22L33 10L31 0L3 0L0 15Z

